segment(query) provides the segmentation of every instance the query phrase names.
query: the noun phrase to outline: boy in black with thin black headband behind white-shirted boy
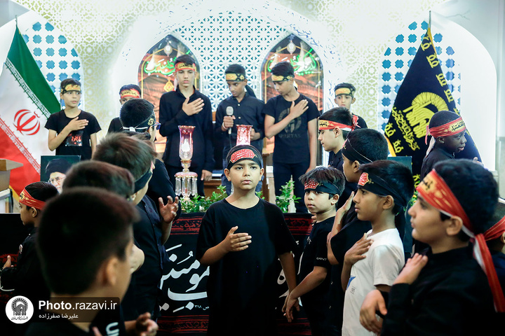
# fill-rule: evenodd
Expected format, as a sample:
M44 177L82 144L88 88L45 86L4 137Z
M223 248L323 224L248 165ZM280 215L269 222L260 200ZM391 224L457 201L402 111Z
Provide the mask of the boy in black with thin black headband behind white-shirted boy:
M346 181L358 183L361 176L359 167L368 162L386 160L389 153L384 135L370 128L358 129L350 132L342 147L344 160L342 169ZM331 307L330 314L337 325L336 331L342 329L342 314L344 309L344 291L341 286L342 266L344 265L345 253L356 241L363 237L365 232L372 229L370 221L360 221L354 211L354 202L351 196L344 206L337 210L332 232L328 235L328 260L334 265L331 274ZM403 219L405 223L405 219ZM405 228L405 224L403 224Z

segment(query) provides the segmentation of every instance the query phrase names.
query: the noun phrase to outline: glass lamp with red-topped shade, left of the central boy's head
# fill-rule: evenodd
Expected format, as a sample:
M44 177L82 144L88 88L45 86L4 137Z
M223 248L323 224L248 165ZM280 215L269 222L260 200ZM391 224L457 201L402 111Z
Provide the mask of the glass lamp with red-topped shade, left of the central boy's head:
M193 156L194 126L179 126L179 157L182 172L175 174L175 195L182 195L182 200L189 201L189 196L196 195L196 181L198 175L189 172L191 157Z

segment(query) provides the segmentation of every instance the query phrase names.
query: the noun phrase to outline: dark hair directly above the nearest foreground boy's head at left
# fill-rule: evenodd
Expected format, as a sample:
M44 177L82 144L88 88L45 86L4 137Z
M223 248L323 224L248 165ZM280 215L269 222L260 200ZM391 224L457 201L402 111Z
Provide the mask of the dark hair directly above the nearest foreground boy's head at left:
M86 160L74 165L63 182L63 192L75 187L109 190L128 199L135 193L135 181L128 170L107 162Z

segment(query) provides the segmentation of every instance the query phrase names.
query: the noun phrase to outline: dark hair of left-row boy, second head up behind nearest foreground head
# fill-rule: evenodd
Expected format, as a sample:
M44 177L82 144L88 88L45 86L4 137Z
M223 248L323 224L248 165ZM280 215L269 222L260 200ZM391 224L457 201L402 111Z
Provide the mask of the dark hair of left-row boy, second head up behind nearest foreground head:
M147 141L123 133L107 134L93 154L93 160L128 169L135 181L147 172L155 158L156 151Z

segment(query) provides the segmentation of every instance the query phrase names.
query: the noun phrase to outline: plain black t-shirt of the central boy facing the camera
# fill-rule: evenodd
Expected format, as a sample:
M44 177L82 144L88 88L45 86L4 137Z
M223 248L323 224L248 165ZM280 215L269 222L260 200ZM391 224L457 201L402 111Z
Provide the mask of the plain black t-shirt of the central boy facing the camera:
M276 205L260 199L254 207L239 209L222 200L203 216L196 259L220 244L236 225L235 233L247 232L252 242L210 265L208 335L271 335L275 332L278 255L295 251L297 245Z

